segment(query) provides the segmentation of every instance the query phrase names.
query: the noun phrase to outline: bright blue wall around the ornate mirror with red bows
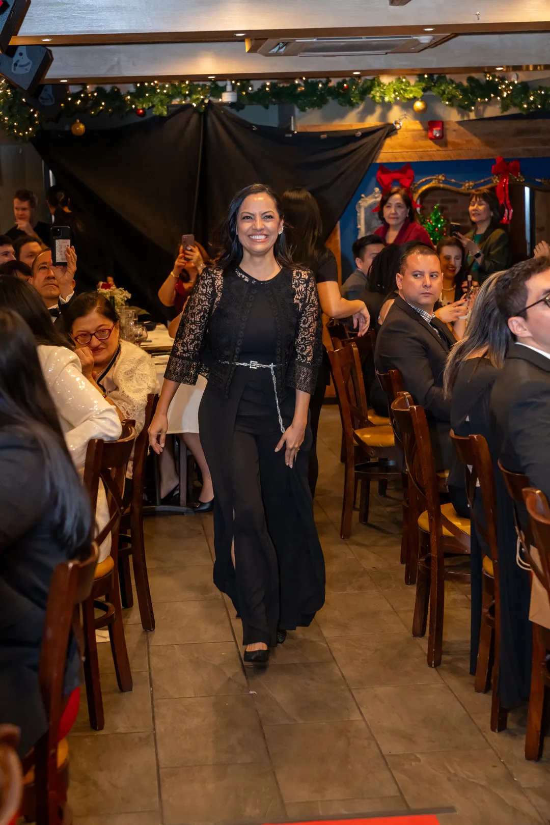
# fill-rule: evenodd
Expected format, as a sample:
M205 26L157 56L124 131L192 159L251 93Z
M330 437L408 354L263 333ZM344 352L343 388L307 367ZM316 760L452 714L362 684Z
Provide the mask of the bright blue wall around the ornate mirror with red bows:
M510 158L506 158L509 160ZM550 178L550 158L518 158L521 163L521 172L526 177L546 177ZM478 181L484 177L491 177L491 167L494 160L452 160L452 161L425 161L422 163L411 163L415 171L415 180L419 181L423 177L433 177L435 175L445 175L455 181ZM389 169L400 169L402 163L384 164ZM342 254L342 280L355 269L355 263L351 256L351 244L357 238L357 212L356 205L362 195L370 195L376 183L376 172L378 163L373 163L369 172L364 176L357 188L355 195L350 200L346 211L340 220L340 239Z

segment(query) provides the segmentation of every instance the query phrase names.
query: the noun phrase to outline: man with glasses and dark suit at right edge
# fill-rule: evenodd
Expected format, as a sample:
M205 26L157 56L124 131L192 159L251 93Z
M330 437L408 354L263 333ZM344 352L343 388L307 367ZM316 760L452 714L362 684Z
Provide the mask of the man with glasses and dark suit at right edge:
M550 257L504 272L495 299L515 337L491 393L501 464L550 500Z

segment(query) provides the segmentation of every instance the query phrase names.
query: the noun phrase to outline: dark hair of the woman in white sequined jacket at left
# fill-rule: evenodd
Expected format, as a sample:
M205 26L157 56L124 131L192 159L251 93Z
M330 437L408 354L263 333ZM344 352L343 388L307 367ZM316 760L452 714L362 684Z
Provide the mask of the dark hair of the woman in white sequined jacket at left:
M12 309L31 328L35 344L48 347L68 347L64 337L52 323L51 315L34 286L9 275L0 276L0 308Z

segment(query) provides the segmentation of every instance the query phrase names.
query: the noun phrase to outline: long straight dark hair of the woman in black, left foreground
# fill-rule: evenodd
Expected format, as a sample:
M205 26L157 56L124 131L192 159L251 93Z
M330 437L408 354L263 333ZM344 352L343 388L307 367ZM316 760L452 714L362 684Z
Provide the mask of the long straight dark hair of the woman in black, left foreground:
M54 538L68 559L87 558L92 530L89 502L42 375L35 337L11 309L0 309L0 427L21 433L27 446L40 450Z

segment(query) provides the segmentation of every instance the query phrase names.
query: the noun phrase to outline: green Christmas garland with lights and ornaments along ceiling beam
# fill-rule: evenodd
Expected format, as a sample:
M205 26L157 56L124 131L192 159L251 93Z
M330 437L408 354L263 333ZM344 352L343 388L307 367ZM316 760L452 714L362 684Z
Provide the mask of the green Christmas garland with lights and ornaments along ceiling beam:
M477 105L491 102L500 104L501 112L511 108L527 114L530 111L550 111L550 87L530 87L528 82L507 80L496 74L487 74L481 80L468 77L466 82L448 78L444 74L419 75L415 82L407 78L395 78L384 83L380 78L347 78L337 81L302 78L294 82L255 82L240 80L233 84L240 110L244 106L276 106L290 103L299 111L322 109L329 101L353 108L367 98L375 103L410 101L426 92L434 94L448 106L465 111L475 111ZM129 92L118 87L80 87L69 93L63 103L63 115L68 118L80 115L125 116L132 113L144 115L149 109L155 115L166 115L168 106L191 103L199 111L208 101L221 101L225 85L218 82L174 82L155 80L136 83ZM27 105L25 95L6 81L0 82L0 125L20 139L30 139L45 120L44 115Z

